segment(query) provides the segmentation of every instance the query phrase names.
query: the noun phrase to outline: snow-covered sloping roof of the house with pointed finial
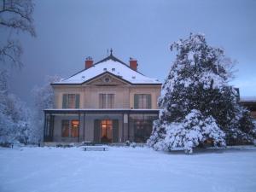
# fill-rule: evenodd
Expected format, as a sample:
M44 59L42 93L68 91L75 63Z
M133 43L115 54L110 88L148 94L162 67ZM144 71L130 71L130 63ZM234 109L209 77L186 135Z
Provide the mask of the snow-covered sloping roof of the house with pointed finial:
M142 73L131 69L131 67L112 54L102 61L96 62L92 67L84 69L67 79L61 79L60 82L53 84L83 84L104 73L113 74L115 77L131 84L161 84L158 79L148 78Z

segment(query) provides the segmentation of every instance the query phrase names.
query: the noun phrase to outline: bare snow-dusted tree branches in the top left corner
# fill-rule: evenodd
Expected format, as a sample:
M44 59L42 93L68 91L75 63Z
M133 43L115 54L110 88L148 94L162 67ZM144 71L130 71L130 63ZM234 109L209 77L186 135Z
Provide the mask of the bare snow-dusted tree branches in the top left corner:
M10 32L28 32L36 37L32 13L32 0L2 0L0 2L0 27ZM15 66L21 66L22 47L18 40L8 38L0 44L0 62L10 61Z

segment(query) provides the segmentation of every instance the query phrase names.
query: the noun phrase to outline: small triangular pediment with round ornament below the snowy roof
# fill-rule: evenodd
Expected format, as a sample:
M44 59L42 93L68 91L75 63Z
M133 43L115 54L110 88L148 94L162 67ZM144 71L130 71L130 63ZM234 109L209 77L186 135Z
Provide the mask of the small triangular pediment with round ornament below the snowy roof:
M111 73L103 73L102 75L96 77L95 79L91 79L86 84L90 85L124 85L128 84L122 79L115 77Z

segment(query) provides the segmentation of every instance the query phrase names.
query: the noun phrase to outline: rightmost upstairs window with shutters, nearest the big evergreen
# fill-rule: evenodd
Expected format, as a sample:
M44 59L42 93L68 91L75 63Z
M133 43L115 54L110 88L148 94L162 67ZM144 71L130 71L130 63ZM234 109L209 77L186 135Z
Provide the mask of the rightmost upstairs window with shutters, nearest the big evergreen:
M150 94L135 94L134 95L134 108L151 108L151 95Z

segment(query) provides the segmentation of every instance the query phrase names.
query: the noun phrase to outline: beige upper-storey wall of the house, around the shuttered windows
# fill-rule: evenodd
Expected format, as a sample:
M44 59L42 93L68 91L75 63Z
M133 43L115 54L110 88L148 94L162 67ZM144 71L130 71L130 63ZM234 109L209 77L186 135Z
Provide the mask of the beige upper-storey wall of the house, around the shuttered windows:
M133 108L134 94L151 94L152 108L157 108L160 85L54 85L55 108L62 108L63 94L80 94L79 108L99 108L99 94L114 94L114 108Z

